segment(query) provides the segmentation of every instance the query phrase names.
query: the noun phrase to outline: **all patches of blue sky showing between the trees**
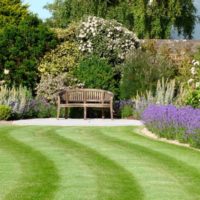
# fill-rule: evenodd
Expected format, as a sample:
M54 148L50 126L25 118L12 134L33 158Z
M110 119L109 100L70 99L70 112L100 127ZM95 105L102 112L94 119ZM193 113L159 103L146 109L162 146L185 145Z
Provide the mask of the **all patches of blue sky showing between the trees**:
M47 3L52 3L53 1L54 0L23 0L24 3L28 3L30 5L29 9L38 14L38 16L43 20L51 16L48 10L43 7ZM198 9L197 14L200 15L200 0L194 0L194 3ZM176 34L174 34L174 38L178 39ZM197 24L194 29L193 39L200 39L200 24Z

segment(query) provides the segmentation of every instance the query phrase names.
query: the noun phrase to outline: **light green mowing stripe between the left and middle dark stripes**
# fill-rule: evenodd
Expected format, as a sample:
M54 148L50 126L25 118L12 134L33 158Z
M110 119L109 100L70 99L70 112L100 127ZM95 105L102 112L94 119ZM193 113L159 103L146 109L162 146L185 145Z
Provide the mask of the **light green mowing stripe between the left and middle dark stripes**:
M96 182L98 176L93 172L91 166L71 153L70 147L63 147L63 144L60 145L52 138L53 128L26 127L25 129L28 134L23 132L15 134L13 137L42 152L54 162L58 169L60 182L55 192L55 200L97 198Z

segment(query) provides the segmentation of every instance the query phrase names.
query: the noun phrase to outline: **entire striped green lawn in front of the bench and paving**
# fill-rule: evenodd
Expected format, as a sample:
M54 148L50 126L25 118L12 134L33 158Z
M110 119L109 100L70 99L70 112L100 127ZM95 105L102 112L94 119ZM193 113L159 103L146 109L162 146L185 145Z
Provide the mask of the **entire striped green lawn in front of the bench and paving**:
M200 152L134 127L0 128L0 200L200 199Z

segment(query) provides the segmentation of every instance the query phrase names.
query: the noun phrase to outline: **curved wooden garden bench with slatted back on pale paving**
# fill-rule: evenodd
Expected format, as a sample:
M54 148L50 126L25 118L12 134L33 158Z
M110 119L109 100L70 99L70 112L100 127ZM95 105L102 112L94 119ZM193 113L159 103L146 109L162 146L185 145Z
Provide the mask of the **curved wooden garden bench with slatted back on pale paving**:
M60 109L65 108L65 117L68 116L68 108L84 108L84 119L87 118L87 108L110 109L110 116L113 119L113 93L99 89L66 89L59 93L57 101L57 119L60 117Z

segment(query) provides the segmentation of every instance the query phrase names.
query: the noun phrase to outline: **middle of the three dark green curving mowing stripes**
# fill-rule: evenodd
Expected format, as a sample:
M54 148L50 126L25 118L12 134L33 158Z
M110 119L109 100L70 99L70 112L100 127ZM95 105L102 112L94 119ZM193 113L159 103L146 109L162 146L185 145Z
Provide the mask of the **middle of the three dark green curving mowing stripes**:
M72 155L79 158L97 176L97 199L103 200L140 200L143 199L143 192L134 180L131 173L127 172L123 167L117 165L114 161L106 156L99 154L94 149L86 145L80 144L71 139L66 139L58 134L48 134L48 138L62 145Z

